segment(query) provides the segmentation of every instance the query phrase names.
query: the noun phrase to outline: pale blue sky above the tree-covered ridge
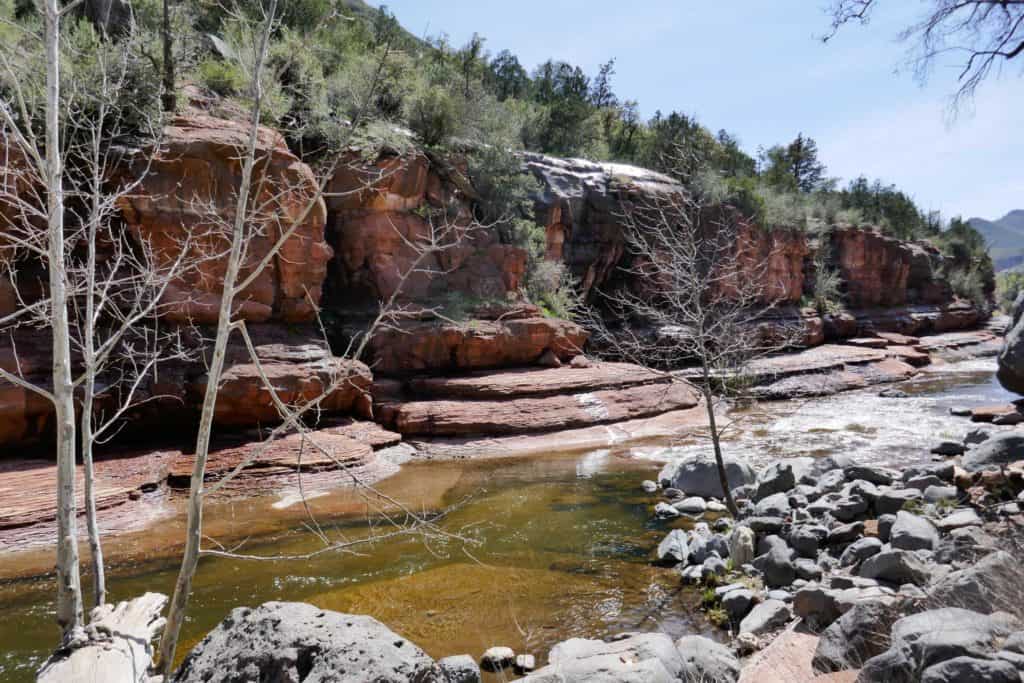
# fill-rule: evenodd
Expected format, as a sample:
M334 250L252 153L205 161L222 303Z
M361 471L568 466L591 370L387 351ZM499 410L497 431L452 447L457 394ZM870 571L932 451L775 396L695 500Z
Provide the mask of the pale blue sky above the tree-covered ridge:
M379 4L379 3L377 3ZM954 70L921 87L899 30L925 0L888 0L867 27L827 45L827 0L389 0L411 32L474 32L532 69L548 57L589 74L615 58L615 91L726 128L755 153L798 132L815 138L830 175L894 182L925 209L998 218L1024 208L1024 78L986 84L950 121Z

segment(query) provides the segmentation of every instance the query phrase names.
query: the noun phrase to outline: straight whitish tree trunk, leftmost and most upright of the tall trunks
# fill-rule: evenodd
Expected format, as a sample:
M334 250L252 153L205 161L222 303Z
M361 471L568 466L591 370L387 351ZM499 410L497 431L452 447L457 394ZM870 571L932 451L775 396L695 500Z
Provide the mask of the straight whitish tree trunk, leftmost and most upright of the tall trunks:
M82 586L75 502L75 395L71 369L60 148L60 7L45 0L46 189L49 284L53 330L53 404L57 461L57 624L67 639L82 627Z

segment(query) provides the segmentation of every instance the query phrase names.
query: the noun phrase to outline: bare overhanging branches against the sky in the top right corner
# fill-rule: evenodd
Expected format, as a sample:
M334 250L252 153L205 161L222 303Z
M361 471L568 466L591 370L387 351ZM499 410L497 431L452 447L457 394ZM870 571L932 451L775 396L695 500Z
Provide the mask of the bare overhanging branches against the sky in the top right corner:
M939 59L959 62L954 108L1009 61L1024 54L1024 0L930 0L921 18L900 32L910 43L909 61L926 80ZM834 0L830 40L848 24L867 24L879 0Z

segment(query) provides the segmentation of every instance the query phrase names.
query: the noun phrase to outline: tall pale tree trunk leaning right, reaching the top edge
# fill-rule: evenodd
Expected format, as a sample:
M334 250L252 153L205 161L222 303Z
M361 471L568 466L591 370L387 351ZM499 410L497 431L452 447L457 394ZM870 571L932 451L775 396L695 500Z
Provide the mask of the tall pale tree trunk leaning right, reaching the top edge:
M166 0L165 0L166 2ZM181 569L174 586L171 606L167 612L167 626L160 641L160 666L165 676L170 676L174 666L174 653L177 649L181 624L184 621L188 597L191 593L191 582L199 564L199 555L203 537L203 482L206 476L206 462L210 454L210 434L213 429L214 409L217 404L217 392L220 389L220 378L224 369L224 357L227 354L227 341L231 335L233 324L231 309L234 304L236 287L242 265L242 252L246 237L246 217L249 208L249 194L252 184L253 167L256 163L256 143L259 135L260 106L262 103L262 88L260 87L260 72L266 57L270 31L276 13L278 2L270 0L267 10L266 25L260 39L256 65L253 69L253 106L250 118L249 145L242 167L242 181L239 187L238 204L234 215L234 225L231 233L231 251L224 273L223 293L220 298L220 311L217 317L217 338L214 341L213 357L206 383L206 394L203 397L203 413L200 418L199 435L196 438L196 463L193 467L188 497L188 523L185 531L185 548L181 558Z

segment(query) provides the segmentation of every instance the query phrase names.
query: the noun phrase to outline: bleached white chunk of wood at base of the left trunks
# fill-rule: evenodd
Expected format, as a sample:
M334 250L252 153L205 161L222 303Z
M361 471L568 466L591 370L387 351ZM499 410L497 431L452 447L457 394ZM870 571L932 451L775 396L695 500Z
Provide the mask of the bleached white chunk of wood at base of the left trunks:
M140 597L92 610L86 644L62 650L39 670L37 683L150 683L153 639L164 626L167 596Z

